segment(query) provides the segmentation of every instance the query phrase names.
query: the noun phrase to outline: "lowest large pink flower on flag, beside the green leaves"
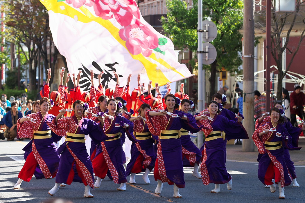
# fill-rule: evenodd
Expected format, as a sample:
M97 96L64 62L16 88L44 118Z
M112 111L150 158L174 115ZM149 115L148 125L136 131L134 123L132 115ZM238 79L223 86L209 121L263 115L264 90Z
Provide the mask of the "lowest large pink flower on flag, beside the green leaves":
M119 36L126 41L128 51L134 55L142 53L143 56L148 57L152 54L152 49L159 45L156 34L140 23L120 29Z

